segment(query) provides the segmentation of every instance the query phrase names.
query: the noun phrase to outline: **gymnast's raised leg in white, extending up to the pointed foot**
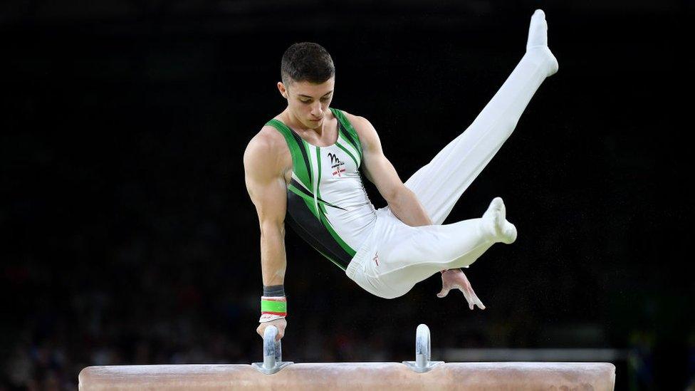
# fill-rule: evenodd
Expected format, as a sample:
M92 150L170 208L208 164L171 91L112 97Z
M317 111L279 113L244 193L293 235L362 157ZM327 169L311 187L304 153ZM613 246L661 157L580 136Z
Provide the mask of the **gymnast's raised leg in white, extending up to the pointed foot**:
M547 46L543 11L531 18L526 54L473 123L410 177L405 185L434 224L444 222L461 194L511 135L546 77L558 70Z

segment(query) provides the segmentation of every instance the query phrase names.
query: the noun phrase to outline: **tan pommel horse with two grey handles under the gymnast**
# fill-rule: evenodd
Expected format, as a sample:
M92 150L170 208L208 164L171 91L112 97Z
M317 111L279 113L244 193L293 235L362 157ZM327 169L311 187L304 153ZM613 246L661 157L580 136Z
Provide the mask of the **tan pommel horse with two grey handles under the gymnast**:
M427 325L403 363L282 361L277 328L263 335L263 363L105 365L80 371L80 390L613 390L611 363L444 363L430 360Z

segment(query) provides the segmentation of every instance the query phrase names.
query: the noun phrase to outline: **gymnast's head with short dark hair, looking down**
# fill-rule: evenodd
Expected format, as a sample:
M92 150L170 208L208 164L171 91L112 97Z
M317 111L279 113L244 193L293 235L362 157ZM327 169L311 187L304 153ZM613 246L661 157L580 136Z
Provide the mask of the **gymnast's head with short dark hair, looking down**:
M313 42L295 43L283 54L278 90L287 99L290 115L316 129L333 99L335 66L328 51Z

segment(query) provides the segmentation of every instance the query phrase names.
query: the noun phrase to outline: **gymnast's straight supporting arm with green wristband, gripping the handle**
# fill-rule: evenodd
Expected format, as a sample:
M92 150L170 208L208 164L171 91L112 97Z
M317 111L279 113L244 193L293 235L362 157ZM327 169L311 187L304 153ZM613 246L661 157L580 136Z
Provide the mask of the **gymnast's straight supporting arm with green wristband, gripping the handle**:
M283 338L287 326L284 317L286 310L282 311L286 306L282 286L286 270L287 189L279 156L278 142L273 140L270 133L264 133L262 130L251 139L244 151L244 180L251 201L256 206L258 224L261 228L263 290L281 292L268 297L264 293L262 307L268 306L276 312L267 314L264 311L256 332L262 338L266 327L275 325L278 328L278 340Z

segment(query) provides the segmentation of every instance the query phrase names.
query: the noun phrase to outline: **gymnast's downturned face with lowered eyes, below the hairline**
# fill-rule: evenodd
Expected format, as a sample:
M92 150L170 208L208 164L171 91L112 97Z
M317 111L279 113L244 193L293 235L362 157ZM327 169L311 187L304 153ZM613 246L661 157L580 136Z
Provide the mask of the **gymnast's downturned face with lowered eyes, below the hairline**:
M308 81L278 82L278 90L287 99L290 114L308 129L323 125L330 100L333 99L335 78L314 84Z

